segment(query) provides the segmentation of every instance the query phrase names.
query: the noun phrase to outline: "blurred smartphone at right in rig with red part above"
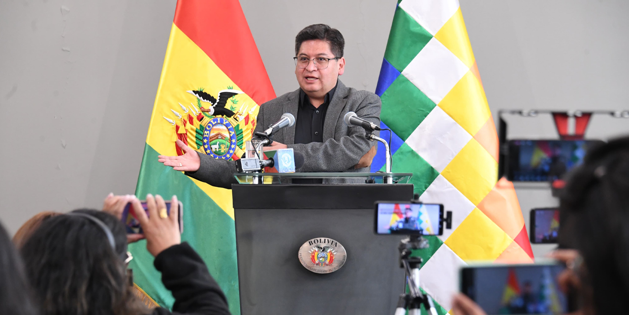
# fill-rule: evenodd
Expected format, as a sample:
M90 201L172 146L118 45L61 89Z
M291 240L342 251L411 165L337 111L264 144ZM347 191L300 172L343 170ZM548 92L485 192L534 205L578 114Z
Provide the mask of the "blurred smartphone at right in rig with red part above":
M548 182L583 162L588 148L601 140L509 140L507 179Z

